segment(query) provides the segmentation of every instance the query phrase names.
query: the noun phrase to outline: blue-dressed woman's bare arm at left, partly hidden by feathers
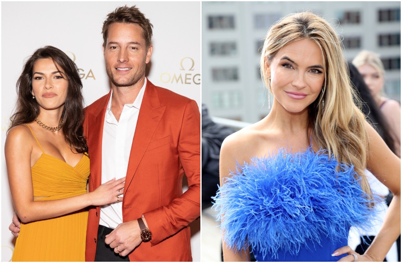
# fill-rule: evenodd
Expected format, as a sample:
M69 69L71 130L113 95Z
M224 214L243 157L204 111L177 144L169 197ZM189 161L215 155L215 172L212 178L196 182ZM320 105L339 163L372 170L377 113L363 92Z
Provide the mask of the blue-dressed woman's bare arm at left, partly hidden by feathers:
M224 178L230 177L229 171L236 170L235 153L242 152L241 149L238 149L238 146L239 144L236 144L236 134L228 136L222 143L219 155L219 177L221 187L225 183ZM244 247L248 247L248 245L245 244ZM224 261L250 261L250 252L248 249L244 249L240 252L229 249L226 245L224 234L222 236L222 250Z

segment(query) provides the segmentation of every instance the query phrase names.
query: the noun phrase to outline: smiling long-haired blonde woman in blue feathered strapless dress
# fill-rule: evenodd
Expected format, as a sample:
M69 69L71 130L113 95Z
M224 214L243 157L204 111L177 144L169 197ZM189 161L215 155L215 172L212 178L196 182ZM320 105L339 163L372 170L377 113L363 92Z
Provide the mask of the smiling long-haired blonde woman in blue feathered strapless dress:
M269 115L226 138L220 153L225 261L382 261L400 234L400 159L355 106L340 41L315 14L269 30L260 70ZM347 246L377 200L365 168L393 193L364 255ZM387 175L386 177L384 175Z

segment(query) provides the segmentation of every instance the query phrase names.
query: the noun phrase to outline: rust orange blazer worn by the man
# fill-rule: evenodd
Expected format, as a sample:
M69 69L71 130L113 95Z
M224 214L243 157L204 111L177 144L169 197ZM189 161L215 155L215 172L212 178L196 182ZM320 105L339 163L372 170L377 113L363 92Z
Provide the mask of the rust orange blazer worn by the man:
M90 191L101 184L103 123L109 97L110 92L85 112ZM184 174L189 185L185 193ZM99 214L99 207L90 208L86 261L95 259ZM134 249L130 261L192 261L189 223L200 215L200 113L195 101L149 80L131 146L123 222L143 214L152 240Z

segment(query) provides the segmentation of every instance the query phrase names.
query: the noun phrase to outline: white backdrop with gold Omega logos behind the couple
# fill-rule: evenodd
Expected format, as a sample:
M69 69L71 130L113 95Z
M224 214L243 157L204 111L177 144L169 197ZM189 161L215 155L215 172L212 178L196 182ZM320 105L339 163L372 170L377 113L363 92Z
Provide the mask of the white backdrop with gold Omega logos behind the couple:
M150 81L194 99L201 107L200 2L2 2L2 261L11 259L14 248L8 230L14 208L4 141L23 64L39 47L53 45L63 50L80 68L89 105L109 92L102 53L103 21L109 12L125 4L136 4L154 25ZM193 225L193 260L200 261L199 220Z

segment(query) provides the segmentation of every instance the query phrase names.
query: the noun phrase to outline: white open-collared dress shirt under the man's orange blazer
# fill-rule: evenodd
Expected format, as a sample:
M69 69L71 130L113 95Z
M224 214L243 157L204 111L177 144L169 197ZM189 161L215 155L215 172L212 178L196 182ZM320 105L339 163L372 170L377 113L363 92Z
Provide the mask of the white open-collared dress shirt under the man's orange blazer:
M144 97L146 84L147 79L145 78L144 86L139 90L135 101L124 105L119 121L116 120L111 111L112 91L103 124L102 183L106 183L113 178L119 179L126 176L139 107ZM100 207L100 225L116 228L121 223L123 223L122 202Z

